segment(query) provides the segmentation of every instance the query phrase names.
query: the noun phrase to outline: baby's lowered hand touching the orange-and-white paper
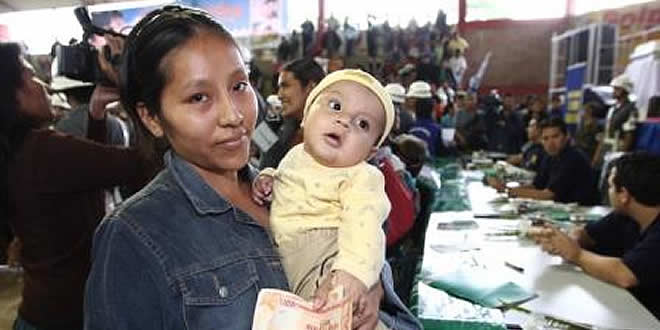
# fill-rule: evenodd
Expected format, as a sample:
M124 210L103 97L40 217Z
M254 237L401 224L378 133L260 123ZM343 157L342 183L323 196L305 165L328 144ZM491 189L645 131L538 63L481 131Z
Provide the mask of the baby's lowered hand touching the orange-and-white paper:
M344 299L348 298L353 303L353 313L359 314L365 307L365 295L367 286L357 277L342 270L335 270L326 278L321 286L316 289L314 295L314 308L321 309L328 303L328 294L333 288L342 286L344 288Z

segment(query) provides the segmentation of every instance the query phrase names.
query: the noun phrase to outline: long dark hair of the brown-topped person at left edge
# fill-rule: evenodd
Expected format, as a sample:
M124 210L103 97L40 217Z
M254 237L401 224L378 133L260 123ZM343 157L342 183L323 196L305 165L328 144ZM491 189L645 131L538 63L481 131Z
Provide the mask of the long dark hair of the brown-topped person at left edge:
M21 48L0 43L0 226L9 216L9 162L32 128L18 108L18 90L23 86Z

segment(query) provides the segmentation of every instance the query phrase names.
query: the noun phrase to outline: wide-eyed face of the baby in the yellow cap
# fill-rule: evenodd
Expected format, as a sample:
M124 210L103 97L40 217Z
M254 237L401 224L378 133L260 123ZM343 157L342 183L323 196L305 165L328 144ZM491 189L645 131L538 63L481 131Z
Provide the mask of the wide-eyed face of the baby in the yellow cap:
M385 129L385 110L378 97L353 81L323 90L305 119L305 151L328 167L348 167L376 151Z

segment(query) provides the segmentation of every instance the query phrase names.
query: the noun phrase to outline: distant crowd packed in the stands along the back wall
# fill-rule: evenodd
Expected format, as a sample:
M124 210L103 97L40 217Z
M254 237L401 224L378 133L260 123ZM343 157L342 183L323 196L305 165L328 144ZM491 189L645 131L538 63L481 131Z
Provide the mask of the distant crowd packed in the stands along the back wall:
M465 55L470 45L457 27L447 25L442 10L435 22L423 26L415 20L405 28L391 27L387 21L375 24L373 17L368 21L367 29L358 31L348 18L340 27L337 19L330 17L320 34L312 22L306 21L301 26L302 33L293 31L282 37L277 47L277 64L320 56L328 60L328 71L350 63L381 80L402 76L404 85L417 79L434 85L447 83L452 88L467 83ZM362 61L364 58L369 60Z

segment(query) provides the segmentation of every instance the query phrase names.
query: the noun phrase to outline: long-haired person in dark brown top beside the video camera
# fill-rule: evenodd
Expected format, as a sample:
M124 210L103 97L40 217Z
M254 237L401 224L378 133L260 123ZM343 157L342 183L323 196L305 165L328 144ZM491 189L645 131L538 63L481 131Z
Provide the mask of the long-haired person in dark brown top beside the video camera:
M48 98L16 44L0 43L0 218L22 242L23 300L15 329L81 329L102 189L143 173L135 150L40 129ZM95 92L88 138L106 136L106 88Z

